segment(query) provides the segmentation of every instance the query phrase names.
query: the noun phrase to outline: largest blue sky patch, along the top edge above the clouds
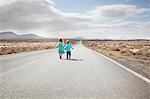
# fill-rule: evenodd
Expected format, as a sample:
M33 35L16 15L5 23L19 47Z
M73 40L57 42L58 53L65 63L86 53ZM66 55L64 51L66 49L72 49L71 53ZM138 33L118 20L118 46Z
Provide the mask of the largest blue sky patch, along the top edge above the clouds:
M53 0L56 7L64 12L85 13L97 6L127 4L137 7L150 7L150 0Z

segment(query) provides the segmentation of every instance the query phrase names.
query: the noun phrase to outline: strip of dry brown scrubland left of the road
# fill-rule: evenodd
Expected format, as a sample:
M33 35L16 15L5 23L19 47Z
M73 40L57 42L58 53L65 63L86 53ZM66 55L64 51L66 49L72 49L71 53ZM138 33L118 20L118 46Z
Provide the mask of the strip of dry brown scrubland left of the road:
M51 49L56 44L57 42L48 41L0 41L0 55Z

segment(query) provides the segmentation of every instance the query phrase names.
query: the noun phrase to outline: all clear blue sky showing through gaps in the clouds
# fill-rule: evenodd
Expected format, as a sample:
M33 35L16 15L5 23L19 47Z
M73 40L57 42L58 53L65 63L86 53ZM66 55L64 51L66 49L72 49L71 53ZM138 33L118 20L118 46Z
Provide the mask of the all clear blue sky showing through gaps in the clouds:
M66 13L86 13L89 10L95 9L97 6L104 5L135 5L139 8L150 8L150 0L53 0L55 7ZM128 21L148 21L150 13L148 12L127 17ZM101 21L104 23L104 21Z

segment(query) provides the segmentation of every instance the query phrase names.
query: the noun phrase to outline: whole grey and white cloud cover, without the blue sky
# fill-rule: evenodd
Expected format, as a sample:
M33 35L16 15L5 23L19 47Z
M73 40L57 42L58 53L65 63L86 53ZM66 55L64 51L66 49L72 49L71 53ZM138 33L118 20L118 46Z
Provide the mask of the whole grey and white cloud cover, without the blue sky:
M150 26L150 22L123 20L124 17L149 11L148 8L105 5L80 14L60 11L55 8L52 0L0 0L0 3L0 31L99 38L119 38L126 35L134 37L139 35L137 33L144 33L145 37L150 38L150 30L145 28ZM102 20L108 21L107 24L97 22ZM109 22L110 20L115 23Z

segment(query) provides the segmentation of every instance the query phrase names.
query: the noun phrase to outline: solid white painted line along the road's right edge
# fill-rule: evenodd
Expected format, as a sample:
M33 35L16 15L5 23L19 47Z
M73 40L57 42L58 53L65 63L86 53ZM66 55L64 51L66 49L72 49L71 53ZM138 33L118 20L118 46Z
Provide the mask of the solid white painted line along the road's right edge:
M86 47L86 48L87 48L87 47ZM89 49L89 48L88 48L88 49ZM144 80L145 82L147 82L147 83L150 84L150 79L144 77L143 75L141 75L141 74L139 74L139 73L137 73L137 72L135 72L135 71L133 71L133 70L131 70L131 69L125 67L125 66L123 66L122 64L120 64L120 63L114 61L113 59L111 59L111 58L109 58L109 57L107 57L107 56L105 56L105 55L102 55L101 53L98 53L98 52L96 52L96 51L94 51L94 50L92 50L92 49L89 49L89 50L91 50L92 52L94 52L94 53L96 53L96 54L98 54L98 55L104 57L105 59L107 59L107 60L109 60L109 61L111 61L111 62L117 64L117 65L120 66L121 68L127 70L128 72L132 73L133 75L137 76L138 78L140 78L140 79L142 79L142 80Z

